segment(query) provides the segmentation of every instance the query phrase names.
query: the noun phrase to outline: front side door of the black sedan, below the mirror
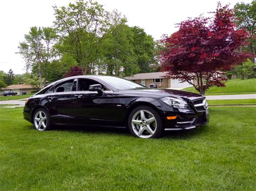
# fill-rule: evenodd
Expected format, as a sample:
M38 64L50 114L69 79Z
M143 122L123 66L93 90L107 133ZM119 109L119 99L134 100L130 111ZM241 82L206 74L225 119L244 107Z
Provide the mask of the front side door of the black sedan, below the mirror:
M82 86L82 82L84 82ZM91 84L101 84L91 79L78 79L78 91L73 102L76 122L78 124L113 126L113 91L105 89L102 95L97 91L89 91ZM104 88L104 85L102 88Z

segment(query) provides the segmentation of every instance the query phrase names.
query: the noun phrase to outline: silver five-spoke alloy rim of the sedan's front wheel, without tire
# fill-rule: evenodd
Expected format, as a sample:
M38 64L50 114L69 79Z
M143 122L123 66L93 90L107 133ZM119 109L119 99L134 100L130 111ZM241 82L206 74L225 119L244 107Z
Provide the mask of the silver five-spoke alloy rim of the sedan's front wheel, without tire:
M139 110L131 120L133 132L141 138L150 138L157 130L157 120L154 115L147 110Z

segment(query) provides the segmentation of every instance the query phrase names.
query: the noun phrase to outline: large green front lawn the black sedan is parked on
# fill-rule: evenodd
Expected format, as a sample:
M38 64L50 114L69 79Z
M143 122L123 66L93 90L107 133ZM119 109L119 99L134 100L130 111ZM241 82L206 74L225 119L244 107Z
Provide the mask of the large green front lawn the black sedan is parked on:
M123 130L39 132L0 108L1 190L254 190L256 107L213 107L211 122L160 139Z

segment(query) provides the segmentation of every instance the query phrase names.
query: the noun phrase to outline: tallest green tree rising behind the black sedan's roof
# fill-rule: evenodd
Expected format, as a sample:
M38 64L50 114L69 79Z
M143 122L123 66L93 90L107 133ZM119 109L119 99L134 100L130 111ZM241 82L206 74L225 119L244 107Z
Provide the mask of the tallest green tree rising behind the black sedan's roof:
M91 0L79 0L61 8L53 6L53 9L54 24L60 36L58 49L63 55L72 56L86 75L87 69L98 59L107 12Z

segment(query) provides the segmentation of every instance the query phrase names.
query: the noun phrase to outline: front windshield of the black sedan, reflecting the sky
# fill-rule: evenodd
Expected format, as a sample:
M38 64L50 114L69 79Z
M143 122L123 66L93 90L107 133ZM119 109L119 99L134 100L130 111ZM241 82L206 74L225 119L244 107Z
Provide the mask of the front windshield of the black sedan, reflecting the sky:
M129 80L125 80L119 77L113 76L100 76L100 79L110 84L110 86L117 89L134 89L134 88L145 88L138 83L131 82Z

